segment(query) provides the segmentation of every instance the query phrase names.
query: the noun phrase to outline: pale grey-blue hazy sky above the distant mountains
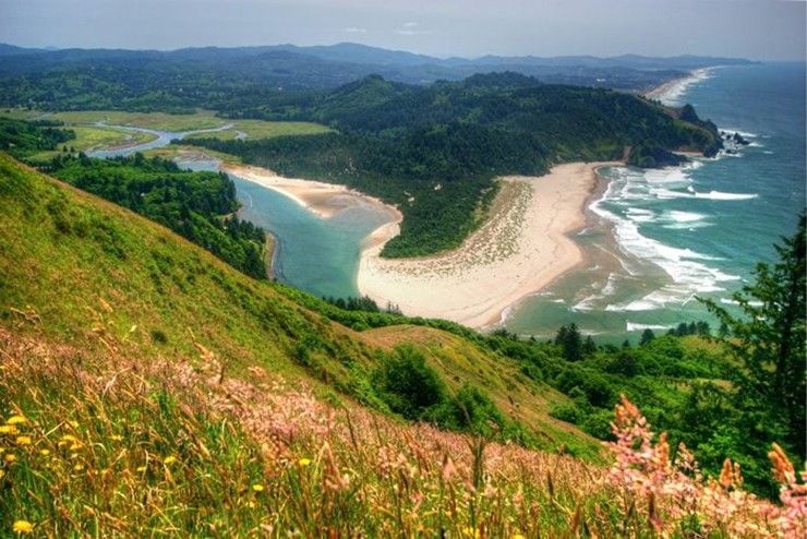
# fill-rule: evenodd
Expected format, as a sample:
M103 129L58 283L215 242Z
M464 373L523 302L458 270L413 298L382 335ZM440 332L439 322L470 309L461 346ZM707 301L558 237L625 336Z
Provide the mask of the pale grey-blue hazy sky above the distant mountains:
M0 0L0 43L805 60L807 0Z

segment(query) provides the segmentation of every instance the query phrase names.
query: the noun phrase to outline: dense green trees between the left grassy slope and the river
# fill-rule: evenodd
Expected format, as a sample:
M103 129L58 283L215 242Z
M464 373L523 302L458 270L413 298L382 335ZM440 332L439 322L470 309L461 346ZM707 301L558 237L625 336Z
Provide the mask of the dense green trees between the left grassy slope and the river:
M142 154L113 159L69 154L41 168L170 228L246 275L266 278L265 232L233 215L240 203L225 173L181 170L171 160Z

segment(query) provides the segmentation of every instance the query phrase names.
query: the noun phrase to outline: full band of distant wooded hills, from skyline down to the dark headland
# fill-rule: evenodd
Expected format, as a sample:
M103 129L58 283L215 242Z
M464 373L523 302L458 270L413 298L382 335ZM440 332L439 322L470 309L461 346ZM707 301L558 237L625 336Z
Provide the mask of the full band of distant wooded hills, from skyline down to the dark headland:
M173 51L0 46L0 57L1 107L164 112L194 107L229 110L288 91L333 89L373 73L396 82L431 84L509 70L546 83L641 92L692 69L747 63L698 57L438 59L356 44Z

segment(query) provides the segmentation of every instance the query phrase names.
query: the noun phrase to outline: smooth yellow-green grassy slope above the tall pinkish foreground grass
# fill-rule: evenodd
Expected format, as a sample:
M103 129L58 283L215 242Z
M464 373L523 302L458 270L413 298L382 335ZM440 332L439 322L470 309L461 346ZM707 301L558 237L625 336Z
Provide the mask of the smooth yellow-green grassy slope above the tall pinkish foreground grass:
M178 359L195 357L202 345L220 358L227 376L249 378L249 368L260 366L323 382L323 391L335 388L385 409L372 388L372 375L389 352L376 346L372 334L362 336L301 308L278 294L286 287L245 277L140 216L58 184L9 157L0 159L0 316L5 323L29 311L41 320L38 331L52 338L97 347L94 337L101 332L108 339L136 344L143 354ZM305 301L325 308L315 298ZM407 340L406 330L400 331L396 344ZM526 408L545 408L544 394L563 399L517 376L511 360L458 337L441 337L436 330L433 335L445 346L439 354L429 352L426 346L423 351L449 388L460 381L493 393L498 388L486 385L497 380L502 386L518 385ZM475 373L455 380L456 373L441 362L446 354L472 358ZM510 408L503 408L504 414L518 417L507 411ZM573 445L595 453L588 436L569 436L559 421L525 424L543 447Z

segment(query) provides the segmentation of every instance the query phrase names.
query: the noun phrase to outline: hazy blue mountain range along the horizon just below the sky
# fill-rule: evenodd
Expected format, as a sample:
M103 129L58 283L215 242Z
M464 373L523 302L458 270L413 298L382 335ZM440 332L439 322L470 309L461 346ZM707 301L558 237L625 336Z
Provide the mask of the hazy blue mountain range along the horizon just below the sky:
M344 43L299 47L274 45L236 48L186 48L171 51L120 49L29 49L0 44L0 77L41 76L89 68L144 69L195 73L212 71L289 88L328 88L378 74L408 84L457 81L478 73L514 71L545 83L611 87L640 92L686 72L713 65L752 63L736 58L679 56L649 58L625 55L613 58L567 56L555 58L485 56L441 59L412 52Z

